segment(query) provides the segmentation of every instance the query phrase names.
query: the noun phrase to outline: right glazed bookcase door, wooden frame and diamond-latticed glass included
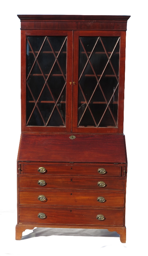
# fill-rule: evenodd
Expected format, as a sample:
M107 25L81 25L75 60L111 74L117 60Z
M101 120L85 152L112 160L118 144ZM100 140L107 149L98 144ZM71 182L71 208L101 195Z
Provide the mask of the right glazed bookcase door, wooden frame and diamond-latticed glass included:
M125 35L74 32L73 132L123 133Z

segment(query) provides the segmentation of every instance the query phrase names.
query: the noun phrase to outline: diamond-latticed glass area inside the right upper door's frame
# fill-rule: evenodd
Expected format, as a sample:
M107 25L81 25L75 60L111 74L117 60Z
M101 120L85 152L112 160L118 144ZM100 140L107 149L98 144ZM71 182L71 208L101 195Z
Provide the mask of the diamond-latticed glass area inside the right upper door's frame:
M116 77L119 75L119 47L120 40L118 37L80 38L78 89L79 127L96 127L95 122L99 127L116 127L115 122L117 123L118 121L118 78ZM84 49L88 56L91 54L89 60ZM110 61L107 55L109 57L111 56ZM87 105L83 94L87 102L90 101L89 108L91 112L89 108L87 108L84 113ZM112 114L107 108L108 105L106 101L108 103L110 102ZM83 113L84 116L82 117Z

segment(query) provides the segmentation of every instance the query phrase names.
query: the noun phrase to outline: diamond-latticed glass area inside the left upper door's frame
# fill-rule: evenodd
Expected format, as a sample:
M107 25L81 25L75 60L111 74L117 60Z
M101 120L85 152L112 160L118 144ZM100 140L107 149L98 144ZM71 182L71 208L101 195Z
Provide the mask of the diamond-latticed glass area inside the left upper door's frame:
M31 70L31 73L27 79L28 125L65 126L65 83L67 68L67 40L65 39L65 36L51 36L48 38L45 36L28 37L29 42L27 41L27 76ZM31 50L29 43L31 44L31 47L36 56L38 55L37 61L33 55L33 51ZM54 53L57 56L57 59ZM46 80L47 78L48 80ZM33 97L35 98L35 101L38 100L34 111L33 108L35 103ZM55 101L61 115L55 106Z

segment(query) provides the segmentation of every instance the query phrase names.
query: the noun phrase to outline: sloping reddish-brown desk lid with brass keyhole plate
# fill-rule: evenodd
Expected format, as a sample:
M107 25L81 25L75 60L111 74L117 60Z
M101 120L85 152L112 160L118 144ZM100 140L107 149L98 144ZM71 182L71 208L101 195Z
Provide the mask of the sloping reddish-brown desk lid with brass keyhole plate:
M75 139L70 139L74 135ZM124 135L21 134L18 161L127 163Z

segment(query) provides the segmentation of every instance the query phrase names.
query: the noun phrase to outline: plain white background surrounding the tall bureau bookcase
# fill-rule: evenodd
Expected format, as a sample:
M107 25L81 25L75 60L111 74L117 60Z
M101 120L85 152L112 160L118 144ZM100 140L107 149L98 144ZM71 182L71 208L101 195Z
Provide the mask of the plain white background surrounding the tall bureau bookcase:
M0 256L148 255L146 1L1 1ZM119 238L49 236L15 241L16 160L20 140L20 20L17 14L131 15L127 24L124 134L128 155L127 242Z

